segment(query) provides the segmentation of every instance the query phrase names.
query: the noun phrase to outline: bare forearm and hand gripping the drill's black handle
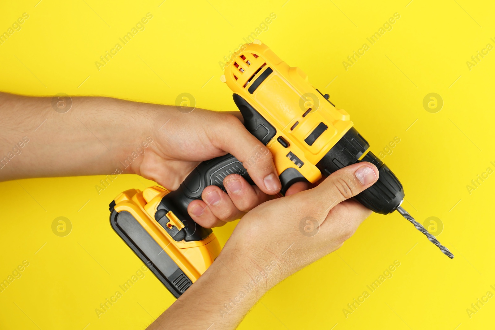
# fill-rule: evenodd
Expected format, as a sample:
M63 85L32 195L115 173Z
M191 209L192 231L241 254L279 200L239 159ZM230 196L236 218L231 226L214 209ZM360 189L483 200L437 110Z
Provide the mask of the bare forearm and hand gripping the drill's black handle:
M108 97L64 99L71 107L58 111L56 101L0 93L0 157L7 157L0 181L135 173L175 190L199 162L231 153L256 186L231 175L228 193L204 189L188 211L208 228L239 219L281 188L271 153L232 114ZM19 149L23 138L29 143Z

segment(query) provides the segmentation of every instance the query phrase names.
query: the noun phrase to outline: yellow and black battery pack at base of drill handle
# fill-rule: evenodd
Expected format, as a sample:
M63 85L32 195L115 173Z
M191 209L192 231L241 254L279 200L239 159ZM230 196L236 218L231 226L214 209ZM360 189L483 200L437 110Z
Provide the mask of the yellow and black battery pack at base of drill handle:
M110 224L156 278L178 298L211 265L220 244L210 229L179 220L166 203L170 191L149 187L121 192L110 203Z

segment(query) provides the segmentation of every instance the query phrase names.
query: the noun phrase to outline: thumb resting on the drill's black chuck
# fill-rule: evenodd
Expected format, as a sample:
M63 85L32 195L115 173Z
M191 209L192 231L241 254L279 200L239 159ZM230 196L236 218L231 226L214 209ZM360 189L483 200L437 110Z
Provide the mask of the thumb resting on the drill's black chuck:
M327 208L332 208L371 187L377 180L376 166L368 162L360 162L332 173L313 191L319 195L319 200L325 199L323 203Z

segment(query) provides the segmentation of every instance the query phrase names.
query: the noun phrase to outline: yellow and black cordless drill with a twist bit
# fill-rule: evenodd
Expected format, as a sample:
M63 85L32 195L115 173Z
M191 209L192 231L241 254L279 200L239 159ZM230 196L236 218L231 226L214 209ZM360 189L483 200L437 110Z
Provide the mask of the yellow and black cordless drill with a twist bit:
M227 63L221 80L234 92L247 130L272 153L282 194L296 182L316 183L350 164L373 163L380 173L378 181L355 198L376 213L398 210L453 258L400 207L402 185L368 151L368 142L352 127L346 111L315 89L301 69L287 65L261 42L241 49ZM211 229L194 222L187 207L201 198L207 186L225 190L223 180L230 174L242 175L252 184L243 163L227 154L199 164L175 191L130 189L110 203L112 228L175 297L196 282L220 253Z

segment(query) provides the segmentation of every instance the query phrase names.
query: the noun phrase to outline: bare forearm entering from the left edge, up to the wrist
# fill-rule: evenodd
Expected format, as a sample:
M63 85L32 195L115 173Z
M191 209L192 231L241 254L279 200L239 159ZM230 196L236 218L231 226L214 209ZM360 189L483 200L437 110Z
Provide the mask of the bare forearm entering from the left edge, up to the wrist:
M0 181L112 174L117 168L134 173L130 160L144 152L152 139L147 137L159 128L152 119L163 108L108 97L72 97L70 110L59 113L51 97L0 93Z

